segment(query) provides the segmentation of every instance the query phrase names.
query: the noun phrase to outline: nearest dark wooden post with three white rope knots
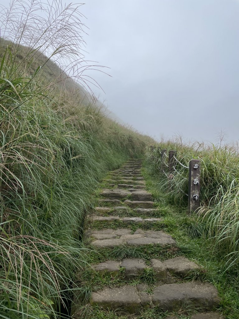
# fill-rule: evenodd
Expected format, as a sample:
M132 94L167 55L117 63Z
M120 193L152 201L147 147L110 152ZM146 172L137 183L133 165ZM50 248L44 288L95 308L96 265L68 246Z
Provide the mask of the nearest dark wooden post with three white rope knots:
M189 214L200 207L200 160L191 159L188 177L188 212Z

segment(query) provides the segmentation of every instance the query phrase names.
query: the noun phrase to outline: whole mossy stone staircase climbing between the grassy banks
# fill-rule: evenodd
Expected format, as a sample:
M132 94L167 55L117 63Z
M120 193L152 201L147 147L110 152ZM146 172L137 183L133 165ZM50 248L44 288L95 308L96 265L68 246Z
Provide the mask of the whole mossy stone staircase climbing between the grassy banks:
M85 238L91 249L99 254L107 249L162 249L177 250L177 242L170 234L160 230L163 223L156 204L146 191L141 176L142 159L131 159L121 169L111 172L106 181L107 189L100 193L98 205L89 214ZM91 269L104 277L123 273L124 284L93 291L90 304L103 309L124 309L139 314L143 309L157 307L168 313L184 307L193 308L198 314L192 319L222 318L216 308L220 298L215 287L208 282L186 281L189 273L201 270L196 263L184 256L174 258L125 258L105 260L91 265ZM153 285L134 284L144 272L151 272ZM168 315L168 319L178 318ZM185 317L184 317L185 318Z

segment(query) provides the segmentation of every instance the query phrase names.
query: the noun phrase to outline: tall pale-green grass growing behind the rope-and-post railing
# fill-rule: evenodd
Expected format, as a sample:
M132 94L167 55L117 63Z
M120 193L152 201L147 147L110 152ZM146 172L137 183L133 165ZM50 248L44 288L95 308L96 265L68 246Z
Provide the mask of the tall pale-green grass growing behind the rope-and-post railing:
M237 145L226 145L220 139L216 145L184 143L180 138L161 141L147 150L147 161L155 174L159 174L161 149L177 151L177 159L188 166L191 159L200 159L201 208L196 214L204 226L204 235L220 249L225 259L224 271L239 269L239 155ZM186 207L188 169L176 164L177 171L170 174L172 185L169 198ZM168 177L162 174L159 187L168 187Z

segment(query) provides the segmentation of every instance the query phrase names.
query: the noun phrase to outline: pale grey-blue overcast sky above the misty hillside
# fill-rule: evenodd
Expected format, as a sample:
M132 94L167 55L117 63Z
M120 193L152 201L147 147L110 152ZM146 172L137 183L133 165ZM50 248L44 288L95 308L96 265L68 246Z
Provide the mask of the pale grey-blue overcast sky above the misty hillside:
M159 138L239 137L239 1L86 0L87 59L108 107Z

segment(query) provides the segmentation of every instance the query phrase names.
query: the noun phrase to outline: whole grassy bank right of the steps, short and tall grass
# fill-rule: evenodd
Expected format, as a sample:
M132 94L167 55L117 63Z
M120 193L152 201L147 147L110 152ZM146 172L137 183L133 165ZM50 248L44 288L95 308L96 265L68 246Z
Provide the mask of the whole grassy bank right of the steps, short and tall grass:
M188 170L177 166L170 181L159 171L161 149L176 150L177 158L188 166L192 158L201 160L201 209L187 214ZM164 224L178 241L184 254L201 264L206 272L197 279L212 282L221 296L221 310L229 319L238 315L238 152L232 145L185 145L162 142L148 148L145 177L155 200L168 212Z

